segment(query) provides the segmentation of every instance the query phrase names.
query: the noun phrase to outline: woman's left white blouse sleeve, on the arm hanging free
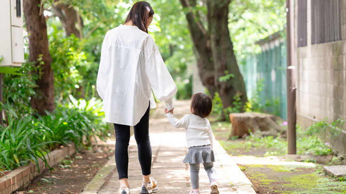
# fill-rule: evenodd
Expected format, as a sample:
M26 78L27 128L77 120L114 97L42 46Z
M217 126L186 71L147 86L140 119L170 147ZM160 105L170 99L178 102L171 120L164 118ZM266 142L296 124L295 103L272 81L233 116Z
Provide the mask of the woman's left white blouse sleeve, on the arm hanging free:
M107 34L106 34L107 36ZM107 46L106 46L106 36L104 37L102 47L101 47L101 58L100 65L98 67L97 79L96 79L96 90L98 96L101 99L104 99L104 90L105 90L105 74L106 74L106 62L107 62Z

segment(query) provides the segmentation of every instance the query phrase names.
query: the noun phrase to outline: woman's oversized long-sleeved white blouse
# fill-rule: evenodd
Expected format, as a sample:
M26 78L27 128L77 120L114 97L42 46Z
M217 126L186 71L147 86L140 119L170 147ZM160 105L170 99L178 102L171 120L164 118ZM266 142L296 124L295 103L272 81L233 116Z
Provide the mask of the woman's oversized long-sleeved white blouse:
M153 38L137 26L119 25L103 40L96 89L105 120L136 125L155 97L172 109L177 88Z

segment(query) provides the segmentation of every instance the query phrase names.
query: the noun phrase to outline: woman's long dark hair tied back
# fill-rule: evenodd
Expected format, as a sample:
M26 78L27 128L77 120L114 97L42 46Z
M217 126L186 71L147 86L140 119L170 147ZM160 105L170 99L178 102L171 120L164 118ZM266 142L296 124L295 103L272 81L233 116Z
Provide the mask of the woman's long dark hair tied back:
M136 2L126 17L125 23L132 20L132 23L144 32L148 33L147 20L154 15L154 10L149 2Z

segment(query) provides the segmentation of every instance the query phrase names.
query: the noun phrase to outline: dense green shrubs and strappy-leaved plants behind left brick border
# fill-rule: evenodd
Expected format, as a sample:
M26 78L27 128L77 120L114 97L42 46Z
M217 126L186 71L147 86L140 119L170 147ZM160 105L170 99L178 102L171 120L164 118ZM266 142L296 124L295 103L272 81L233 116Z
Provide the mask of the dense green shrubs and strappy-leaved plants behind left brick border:
M26 62L20 68L2 72L5 123L0 125L0 171L30 162L38 167L39 159L47 165L46 154L60 145L75 143L81 147L90 144L92 137L104 139L110 135L109 125L103 119L102 100L94 97L94 86L90 89L90 83L96 82L98 69L95 56L85 51L85 41L74 35L66 37L54 23L49 41L50 50L54 51L51 52L56 98L53 112L37 115L30 104L31 97L37 95L36 80L44 65L41 58L36 66L28 62L25 53Z

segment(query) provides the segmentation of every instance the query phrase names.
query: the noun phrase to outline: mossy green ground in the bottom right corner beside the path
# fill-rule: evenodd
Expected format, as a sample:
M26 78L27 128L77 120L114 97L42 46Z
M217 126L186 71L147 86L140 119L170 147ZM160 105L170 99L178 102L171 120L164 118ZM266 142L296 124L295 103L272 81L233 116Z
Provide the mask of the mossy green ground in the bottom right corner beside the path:
M244 165L255 189L277 194L340 194L346 182L326 176L321 167ZM345 190L345 189L344 189Z

